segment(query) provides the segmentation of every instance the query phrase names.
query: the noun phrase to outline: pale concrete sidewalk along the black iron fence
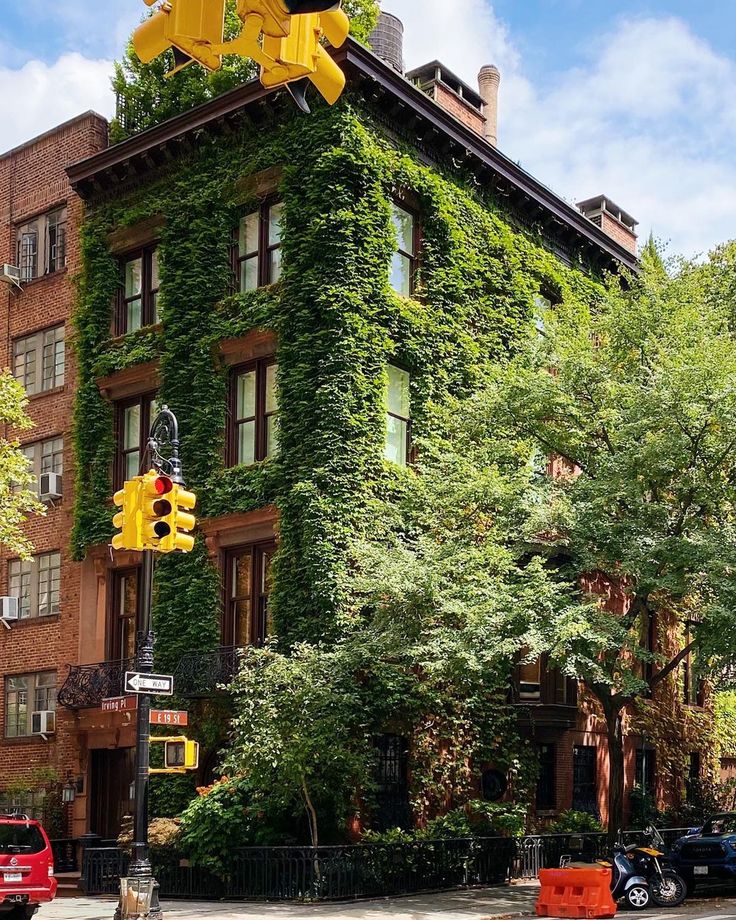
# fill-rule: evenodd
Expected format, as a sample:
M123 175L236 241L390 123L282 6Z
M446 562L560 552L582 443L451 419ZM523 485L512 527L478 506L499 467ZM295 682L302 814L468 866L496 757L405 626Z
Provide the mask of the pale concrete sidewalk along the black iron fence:
M349 904L236 904L168 901L164 920L484 920L534 912L538 884L414 895ZM116 902L99 898L63 898L44 905L37 920L112 920Z

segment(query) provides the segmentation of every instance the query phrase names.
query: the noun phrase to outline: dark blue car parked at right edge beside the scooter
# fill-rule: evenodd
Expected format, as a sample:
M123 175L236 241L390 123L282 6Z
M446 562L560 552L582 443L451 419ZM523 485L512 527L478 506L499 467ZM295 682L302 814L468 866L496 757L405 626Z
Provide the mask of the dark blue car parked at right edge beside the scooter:
M689 893L699 881L736 881L736 812L713 815L702 827L692 828L672 844L670 859Z

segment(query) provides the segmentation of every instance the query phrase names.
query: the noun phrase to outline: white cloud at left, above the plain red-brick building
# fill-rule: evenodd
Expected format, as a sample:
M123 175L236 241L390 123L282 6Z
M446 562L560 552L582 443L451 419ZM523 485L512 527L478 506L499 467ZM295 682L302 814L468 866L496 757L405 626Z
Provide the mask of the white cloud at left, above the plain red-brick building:
M29 61L18 70L0 67L0 99L6 103L0 152L87 109L110 117L111 74L111 61L90 60L77 53L62 55L53 64Z

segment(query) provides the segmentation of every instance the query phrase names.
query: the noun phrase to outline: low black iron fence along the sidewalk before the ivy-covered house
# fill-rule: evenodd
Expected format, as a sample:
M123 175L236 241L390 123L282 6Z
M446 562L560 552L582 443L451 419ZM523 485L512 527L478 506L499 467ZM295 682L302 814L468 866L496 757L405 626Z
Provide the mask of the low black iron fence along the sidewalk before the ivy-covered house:
M155 866L165 898L340 901L412 894L509 878L514 841L505 837L344 847L249 847L237 850L223 879L191 866ZM87 850L88 894L114 894L127 858L118 849Z

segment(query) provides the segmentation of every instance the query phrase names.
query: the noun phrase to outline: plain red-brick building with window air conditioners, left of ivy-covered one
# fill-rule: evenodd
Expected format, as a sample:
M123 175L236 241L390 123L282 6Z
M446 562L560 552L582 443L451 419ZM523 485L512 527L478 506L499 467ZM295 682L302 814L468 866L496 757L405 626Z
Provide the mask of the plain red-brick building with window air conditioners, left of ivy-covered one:
M34 428L19 438L47 506L27 525L31 562L0 552L0 595L19 599L18 619L0 630L0 794L42 768L62 783L80 772L74 719L55 705L80 641L80 567L69 550L77 384L69 343L84 208L66 167L106 146L107 122L87 112L0 156L0 263L20 269L18 284L6 277L0 285L0 366L29 395Z

